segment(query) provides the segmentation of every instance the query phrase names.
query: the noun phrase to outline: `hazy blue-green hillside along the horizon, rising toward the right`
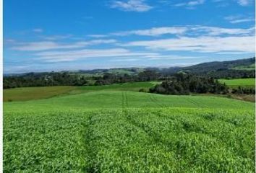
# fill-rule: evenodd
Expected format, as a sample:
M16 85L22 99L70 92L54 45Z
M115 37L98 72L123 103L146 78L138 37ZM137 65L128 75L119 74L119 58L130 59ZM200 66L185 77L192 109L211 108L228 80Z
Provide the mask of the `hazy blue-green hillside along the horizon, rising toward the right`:
M253 71L255 70L255 57L244 58L234 61L214 61L209 63L199 63L194 66L187 67L170 67L170 68L106 68L106 69L93 69L93 70L78 70L78 71L60 71L59 73L68 74L81 74L85 76L103 76L105 73L109 74L129 74L136 75L145 70L158 71L163 74L174 74L179 71L190 71L195 74L205 74L214 71ZM25 73L25 74L4 74L4 76L42 76L50 74L52 72L40 72L40 73ZM57 72L55 72L57 73Z

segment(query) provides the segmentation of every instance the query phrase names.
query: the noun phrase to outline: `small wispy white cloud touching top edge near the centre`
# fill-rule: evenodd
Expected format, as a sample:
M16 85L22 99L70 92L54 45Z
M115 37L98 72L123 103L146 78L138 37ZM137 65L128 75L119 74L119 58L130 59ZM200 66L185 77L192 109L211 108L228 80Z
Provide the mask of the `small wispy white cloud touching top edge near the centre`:
M147 12L152 9L144 0L113 1L111 8L120 9L126 12Z

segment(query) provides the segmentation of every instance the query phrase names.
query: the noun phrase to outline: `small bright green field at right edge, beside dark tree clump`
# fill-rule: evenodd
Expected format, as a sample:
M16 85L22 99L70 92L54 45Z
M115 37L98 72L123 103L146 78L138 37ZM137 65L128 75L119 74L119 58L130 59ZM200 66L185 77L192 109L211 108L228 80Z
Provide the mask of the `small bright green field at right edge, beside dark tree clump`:
M221 83L225 83L228 86L236 87L236 86L255 86L255 78L249 79L218 79Z

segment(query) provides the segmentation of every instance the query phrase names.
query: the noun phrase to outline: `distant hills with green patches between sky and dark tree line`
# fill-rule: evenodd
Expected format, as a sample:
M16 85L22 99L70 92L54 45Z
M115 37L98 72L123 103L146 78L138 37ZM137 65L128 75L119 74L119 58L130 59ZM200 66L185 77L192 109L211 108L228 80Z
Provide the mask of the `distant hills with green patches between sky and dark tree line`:
M239 59L234 61L214 61L209 63L199 63L197 65L187 67L177 66L170 68L102 68L93 70L60 71L56 73L80 74L81 76L89 77L103 76L103 74L106 73L136 75L145 70L158 71L163 75L171 75L179 71L183 71L198 75L210 75L215 78L247 78L255 76L255 57ZM4 74L4 76L42 76L50 73L53 72Z

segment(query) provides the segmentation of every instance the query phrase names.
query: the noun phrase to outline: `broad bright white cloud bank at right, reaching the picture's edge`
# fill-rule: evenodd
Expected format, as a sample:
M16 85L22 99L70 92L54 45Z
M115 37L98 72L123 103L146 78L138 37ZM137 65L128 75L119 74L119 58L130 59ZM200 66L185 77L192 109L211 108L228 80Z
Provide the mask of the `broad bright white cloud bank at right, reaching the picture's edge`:
M124 44L123 46L140 46L150 50L175 50L201 53L218 53L222 51L255 53L255 36L179 37L162 40L135 41Z

